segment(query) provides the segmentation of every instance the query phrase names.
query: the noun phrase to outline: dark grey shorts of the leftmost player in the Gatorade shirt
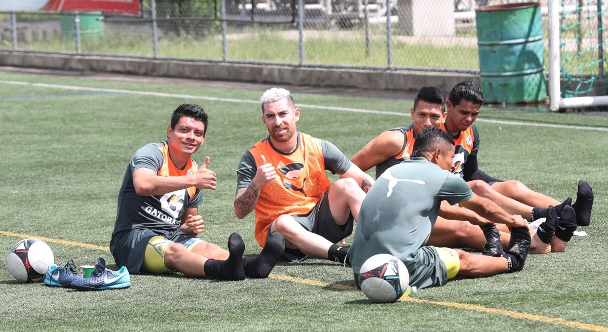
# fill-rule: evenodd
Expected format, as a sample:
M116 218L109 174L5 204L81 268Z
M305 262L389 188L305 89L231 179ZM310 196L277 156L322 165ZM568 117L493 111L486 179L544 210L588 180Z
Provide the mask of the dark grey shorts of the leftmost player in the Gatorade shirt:
M110 251L116 265L126 266L129 273L140 273L146 246L151 238L160 235L175 243L185 243L194 237L182 231L162 231L159 229L135 228L128 232L122 232L112 238Z

